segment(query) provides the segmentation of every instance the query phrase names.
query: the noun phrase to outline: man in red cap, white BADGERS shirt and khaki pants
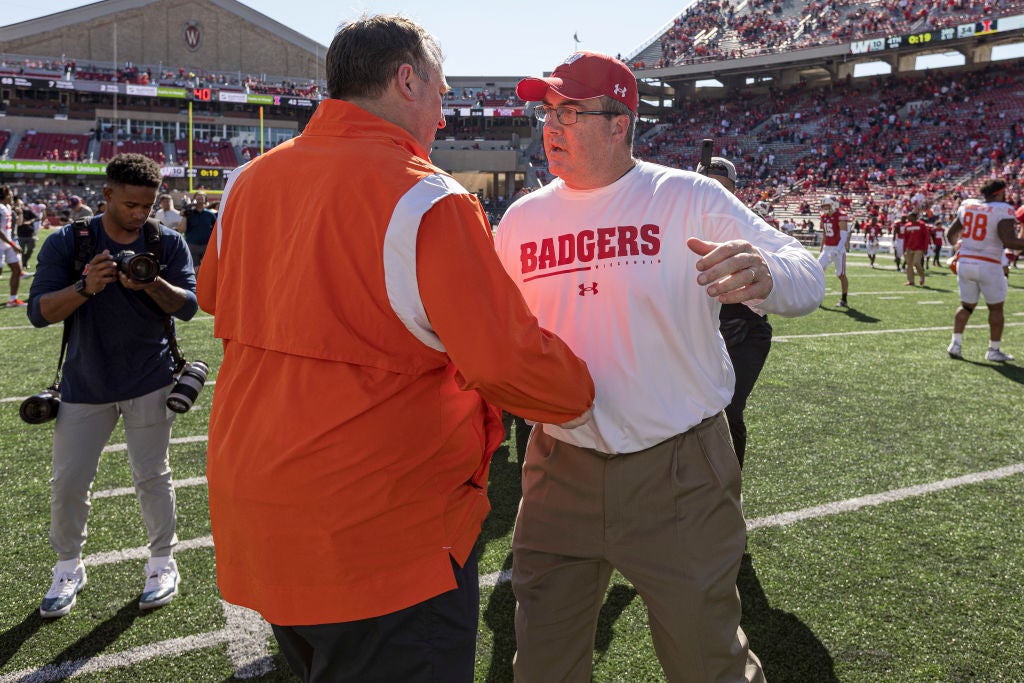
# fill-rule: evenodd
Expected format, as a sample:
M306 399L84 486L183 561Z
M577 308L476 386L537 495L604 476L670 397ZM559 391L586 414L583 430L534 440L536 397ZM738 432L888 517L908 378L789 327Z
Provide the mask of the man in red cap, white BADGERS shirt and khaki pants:
M539 425L513 535L516 680L589 681L612 569L644 599L670 681L764 681L739 628L740 472L722 303L801 315L824 273L717 181L633 158L636 79L575 52L519 83L557 179L515 202L499 257L584 358L593 419Z

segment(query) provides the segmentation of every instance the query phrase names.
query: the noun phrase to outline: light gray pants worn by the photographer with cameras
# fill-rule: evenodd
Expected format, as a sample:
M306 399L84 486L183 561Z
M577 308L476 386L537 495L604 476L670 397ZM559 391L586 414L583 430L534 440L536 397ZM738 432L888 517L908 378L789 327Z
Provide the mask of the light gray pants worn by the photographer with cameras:
M171 555L178 542L167 452L175 417L165 404L171 386L116 403L60 403L53 429L50 479L50 545L58 559L82 556L89 495L99 456L122 415L135 495L148 532L150 555Z

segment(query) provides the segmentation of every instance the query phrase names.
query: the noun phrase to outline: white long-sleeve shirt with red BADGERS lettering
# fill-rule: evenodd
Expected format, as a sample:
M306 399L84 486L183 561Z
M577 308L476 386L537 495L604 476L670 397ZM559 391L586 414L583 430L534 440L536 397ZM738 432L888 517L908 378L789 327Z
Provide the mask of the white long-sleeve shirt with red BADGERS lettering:
M546 424L547 433L632 453L729 403L735 377L718 331L720 304L696 282L691 237L758 248L773 289L752 303L766 312L803 315L824 298L824 273L799 242L688 171L640 162L591 190L555 180L506 212L499 258L541 326L587 361L596 387L588 424Z

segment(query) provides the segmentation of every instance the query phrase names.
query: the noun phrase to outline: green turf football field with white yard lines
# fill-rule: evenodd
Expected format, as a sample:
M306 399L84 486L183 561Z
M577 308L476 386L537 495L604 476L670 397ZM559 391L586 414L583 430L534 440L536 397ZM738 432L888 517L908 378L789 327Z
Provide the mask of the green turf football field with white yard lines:
M849 309L835 306L829 270L818 311L772 316L775 343L748 409L743 628L772 683L1019 682L1024 270L1011 273L1004 335L1022 360L993 365L983 308L965 335L967 359L945 353L954 275L933 268L926 288L904 287L891 257L879 262L851 257ZM201 314L179 334L215 380L212 328ZM210 387L171 445L180 596L138 610L145 535L117 431L93 488L89 586L70 615L39 617L54 562L52 423L26 425L17 407L52 380L59 341L59 327L35 330L24 309L0 309L0 682L292 680L260 622L217 593L202 478ZM501 572L518 486L513 438L495 455L481 537L479 681L512 680L514 599ZM621 578L602 611L594 680L664 680L643 604Z

